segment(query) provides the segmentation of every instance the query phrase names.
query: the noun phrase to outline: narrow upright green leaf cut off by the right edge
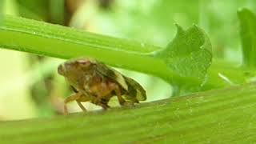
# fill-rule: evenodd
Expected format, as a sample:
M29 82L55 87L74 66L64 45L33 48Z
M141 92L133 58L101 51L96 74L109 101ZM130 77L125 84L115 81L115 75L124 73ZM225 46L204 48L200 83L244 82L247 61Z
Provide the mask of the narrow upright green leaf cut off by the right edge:
M248 9L238 10L244 66L256 67L256 16Z

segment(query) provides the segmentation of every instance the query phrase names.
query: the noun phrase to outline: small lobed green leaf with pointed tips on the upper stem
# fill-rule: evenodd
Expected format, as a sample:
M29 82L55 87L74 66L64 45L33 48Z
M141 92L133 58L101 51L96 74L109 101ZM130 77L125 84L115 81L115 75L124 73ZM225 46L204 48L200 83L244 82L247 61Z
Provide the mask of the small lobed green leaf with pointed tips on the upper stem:
M203 80L212 60L210 39L198 26L192 26L186 31L176 26L176 37L156 56L164 58L166 65L182 77Z

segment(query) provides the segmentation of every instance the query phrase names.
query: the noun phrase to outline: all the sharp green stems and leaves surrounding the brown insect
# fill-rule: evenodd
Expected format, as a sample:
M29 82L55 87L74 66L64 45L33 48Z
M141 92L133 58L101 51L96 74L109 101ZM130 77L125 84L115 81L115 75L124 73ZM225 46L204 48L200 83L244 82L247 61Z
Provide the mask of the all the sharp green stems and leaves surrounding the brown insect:
M238 10L238 18L242 66L225 59L212 60L210 38L196 25L187 30L176 25L176 37L162 48L2 15L0 46L3 48L55 58L93 57L110 66L152 74L177 86L178 91L198 93L145 103L134 109L4 122L0 123L0 139L3 142L71 142L72 138L76 142L220 142L222 139L231 142L240 138L241 142L253 142L250 135L254 135L256 17L250 10L242 9ZM245 82L252 83L242 84ZM212 90L215 88L219 90ZM93 125L88 126L89 123ZM6 130L6 126L10 129Z

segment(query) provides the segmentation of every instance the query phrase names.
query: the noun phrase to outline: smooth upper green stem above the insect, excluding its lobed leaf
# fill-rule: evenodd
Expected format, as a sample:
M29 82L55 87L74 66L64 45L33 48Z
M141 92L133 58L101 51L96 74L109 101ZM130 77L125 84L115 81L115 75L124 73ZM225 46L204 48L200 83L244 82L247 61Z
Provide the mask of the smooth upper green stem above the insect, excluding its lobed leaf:
M166 66L163 59L154 57L154 53L162 49L158 46L12 16L3 18L0 37L0 46L12 50L56 58L97 58L111 66L152 74L178 86L200 85L198 79L180 77ZM218 70L210 70L206 89L230 86L222 79L216 79ZM242 76L239 70L235 75Z

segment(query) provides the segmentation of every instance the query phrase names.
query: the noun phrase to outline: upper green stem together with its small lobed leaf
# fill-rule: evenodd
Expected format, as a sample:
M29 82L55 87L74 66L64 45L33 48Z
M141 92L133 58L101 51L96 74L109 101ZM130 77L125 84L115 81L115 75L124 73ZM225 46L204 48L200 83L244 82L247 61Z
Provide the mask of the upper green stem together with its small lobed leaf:
M2 47L55 58L98 58L111 66L153 74L178 86L200 86L212 57L210 41L198 26L186 31L178 26L176 38L165 49L11 16L4 17L0 30ZM236 83L245 81L242 70L226 66L230 63L214 63L202 90L230 85L218 78L219 73L234 78Z

